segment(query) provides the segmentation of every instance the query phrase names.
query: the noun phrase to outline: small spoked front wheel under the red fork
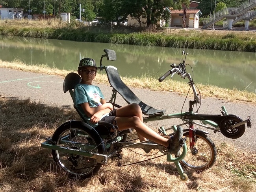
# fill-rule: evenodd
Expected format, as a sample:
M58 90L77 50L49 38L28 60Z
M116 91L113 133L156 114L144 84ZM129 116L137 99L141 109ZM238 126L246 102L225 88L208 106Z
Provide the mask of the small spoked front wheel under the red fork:
M213 141L204 133L196 131L195 134L193 134L195 146L193 152L191 152L189 132L185 132L183 135L187 138L187 154L180 163L193 170L206 170L210 168L215 163L217 157L217 149ZM182 148L180 153L182 153Z

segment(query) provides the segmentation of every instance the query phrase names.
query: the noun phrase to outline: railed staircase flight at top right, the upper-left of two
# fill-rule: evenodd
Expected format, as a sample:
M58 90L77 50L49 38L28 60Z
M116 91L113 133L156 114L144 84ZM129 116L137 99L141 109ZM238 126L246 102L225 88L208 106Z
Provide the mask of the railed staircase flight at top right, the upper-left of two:
M218 22L219 20L226 18L226 17L240 17L241 15L245 14L246 12L254 9L256 7L256 0L249 0L244 2L238 7L233 8L223 8L220 11L216 12L214 15L211 15L210 18L203 20L202 29L208 28L213 26L214 23Z

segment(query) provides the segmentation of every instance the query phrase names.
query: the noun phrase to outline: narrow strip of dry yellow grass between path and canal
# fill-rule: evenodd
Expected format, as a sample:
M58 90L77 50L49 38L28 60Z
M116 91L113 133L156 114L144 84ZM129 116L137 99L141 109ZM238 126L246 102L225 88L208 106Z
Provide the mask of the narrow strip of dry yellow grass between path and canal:
M20 69L24 71L31 71L35 73L47 73L50 75L61 75L65 77L69 72L76 72L76 71L66 71L60 70L56 68L49 68L48 66L28 66L23 64L18 60L14 60L13 62L6 62L0 60L0 67L4 68L11 68L11 69ZM124 83L127 86L135 87L135 88L143 88L143 89L150 89L154 91L172 91L177 92L180 95L185 96L187 91L189 90L189 86L187 86L186 82L180 82L176 80L172 80L170 78L165 79L163 82L159 82L158 80L152 77L141 77L141 78L128 78L128 77L121 77ZM108 78L106 73L99 72L96 75L95 80L100 83L109 84ZM218 99L224 99L226 101L232 102L249 102L251 104L256 104L256 93L248 92L248 91L239 91L236 88L233 89L224 89L219 88L217 86L212 85L203 85L197 84L200 95L204 97L214 97ZM190 94L193 92L190 90ZM191 95L192 96L192 95Z

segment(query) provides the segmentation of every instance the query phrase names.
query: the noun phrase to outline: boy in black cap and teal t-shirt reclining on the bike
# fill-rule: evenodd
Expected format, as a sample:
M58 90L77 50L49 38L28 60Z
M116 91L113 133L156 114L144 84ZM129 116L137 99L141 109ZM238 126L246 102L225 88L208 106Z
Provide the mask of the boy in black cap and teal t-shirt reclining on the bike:
M84 58L80 60L78 74L82 81L74 88L74 102L80 113L86 117L86 123L96 127L98 121L101 120L114 125L117 124L119 131L134 128L140 141L150 139L163 145L170 153L178 155L181 145L185 142L185 139L181 139L182 128L178 127L176 133L168 139L143 123L143 115L138 104L133 103L113 109L113 105L105 101L100 88L92 85L96 76L96 69L94 59ZM146 153L149 151L145 149Z

